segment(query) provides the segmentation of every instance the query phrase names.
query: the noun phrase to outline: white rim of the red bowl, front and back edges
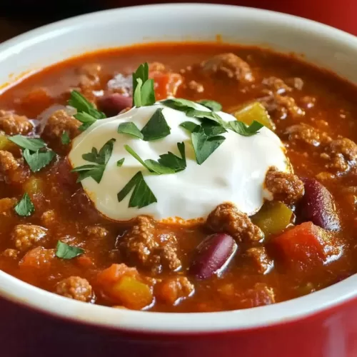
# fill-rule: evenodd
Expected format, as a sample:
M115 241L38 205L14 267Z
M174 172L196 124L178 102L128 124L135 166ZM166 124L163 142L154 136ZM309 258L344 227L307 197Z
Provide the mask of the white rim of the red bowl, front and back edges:
M189 9L190 11L200 11L212 16L214 16L215 11L222 9L224 11L236 12L236 14L243 12L246 16L258 16L263 21L277 21L284 26L306 27L311 32L322 32L326 36L337 38L344 46L352 46L357 49L357 38L355 36L315 21L280 14L274 11L251 9L242 6L191 3L131 6L122 9L99 11L58 21L4 42L0 45L0 57L6 51L11 51L14 46L24 43L31 45L31 43L39 41L41 36L51 36L51 33L54 31L62 31L64 28L78 24L79 21L85 23L104 15L109 16L111 14L111 16L116 16L119 12L132 16L136 11L147 11L149 9L151 11L170 9L175 12L184 12ZM287 323L288 321L295 321L321 311L326 311L341 303L346 303L351 298L356 298L357 289L354 286L357 286L357 275L351 276L316 293L269 306L213 313L157 313L81 303L36 288L0 271L0 296L9 301L78 323L140 333L217 333Z

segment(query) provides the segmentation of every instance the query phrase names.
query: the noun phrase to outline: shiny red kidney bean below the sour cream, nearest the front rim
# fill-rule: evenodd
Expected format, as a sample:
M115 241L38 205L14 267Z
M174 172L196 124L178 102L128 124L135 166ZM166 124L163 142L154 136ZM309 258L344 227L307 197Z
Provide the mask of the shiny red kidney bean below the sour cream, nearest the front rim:
M218 272L236 252L237 244L231 236L216 233L204 239L196 248L190 273L206 279Z

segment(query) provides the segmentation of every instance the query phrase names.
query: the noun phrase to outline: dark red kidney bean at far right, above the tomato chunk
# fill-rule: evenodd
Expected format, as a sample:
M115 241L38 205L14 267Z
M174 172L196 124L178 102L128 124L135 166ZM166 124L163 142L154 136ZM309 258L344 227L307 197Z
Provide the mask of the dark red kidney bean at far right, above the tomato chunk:
M338 231L340 220L333 197L315 178L301 178L305 193L296 207L299 221L311 221L328 231Z

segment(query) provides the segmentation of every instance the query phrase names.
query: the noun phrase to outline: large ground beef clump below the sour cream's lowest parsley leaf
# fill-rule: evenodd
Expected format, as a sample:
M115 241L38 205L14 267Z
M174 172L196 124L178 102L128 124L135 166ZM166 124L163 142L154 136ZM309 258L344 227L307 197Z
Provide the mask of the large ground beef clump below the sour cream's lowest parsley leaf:
M155 221L147 216L136 218L134 226L121 238L119 246L134 265L139 264L156 272L161 268L175 271L181 266L176 237L156 230Z

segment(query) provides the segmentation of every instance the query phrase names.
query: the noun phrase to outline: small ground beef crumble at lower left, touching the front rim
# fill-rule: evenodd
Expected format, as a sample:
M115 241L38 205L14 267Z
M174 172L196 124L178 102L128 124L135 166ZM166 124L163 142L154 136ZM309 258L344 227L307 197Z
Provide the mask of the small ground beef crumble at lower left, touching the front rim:
M56 293L66 298L83 301L85 303L93 300L93 289L89 282L79 276L70 276L56 284Z

